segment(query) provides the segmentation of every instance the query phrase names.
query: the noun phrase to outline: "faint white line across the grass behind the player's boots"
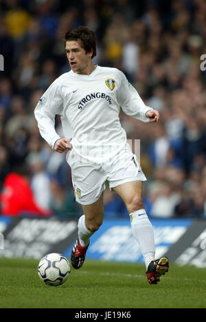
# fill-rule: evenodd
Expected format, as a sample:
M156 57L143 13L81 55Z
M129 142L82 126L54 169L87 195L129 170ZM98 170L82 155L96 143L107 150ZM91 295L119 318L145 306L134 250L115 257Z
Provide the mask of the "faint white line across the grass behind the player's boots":
M145 275L144 274L126 274L126 273L113 273L113 272L98 272L98 271L79 271L79 273L82 274L97 274L97 275L102 275L102 276L119 276L119 277L137 277L137 278L142 278ZM169 274L169 273L168 273ZM167 279L172 279L175 280L181 280L181 281L198 281L198 279L191 279L188 277L170 277L170 275L166 276ZM206 282L206 279L202 279L201 282Z

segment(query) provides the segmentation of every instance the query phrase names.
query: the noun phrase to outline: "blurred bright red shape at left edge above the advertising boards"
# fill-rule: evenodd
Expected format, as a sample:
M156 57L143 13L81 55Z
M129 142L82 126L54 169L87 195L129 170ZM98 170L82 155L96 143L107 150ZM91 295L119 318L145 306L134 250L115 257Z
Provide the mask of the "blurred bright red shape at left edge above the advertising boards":
M5 177L1 192L1 214L4 216L49 216L50 211L42 210L36 205L32 189L27 180L16 173Z

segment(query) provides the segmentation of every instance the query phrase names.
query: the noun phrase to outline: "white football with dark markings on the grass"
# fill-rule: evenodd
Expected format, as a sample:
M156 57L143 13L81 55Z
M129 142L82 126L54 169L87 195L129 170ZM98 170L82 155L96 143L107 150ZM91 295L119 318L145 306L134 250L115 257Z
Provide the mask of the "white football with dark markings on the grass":
M45 255L38 263L38 276L49 286L58 286L67 281L71 268L66 257L58 253Z

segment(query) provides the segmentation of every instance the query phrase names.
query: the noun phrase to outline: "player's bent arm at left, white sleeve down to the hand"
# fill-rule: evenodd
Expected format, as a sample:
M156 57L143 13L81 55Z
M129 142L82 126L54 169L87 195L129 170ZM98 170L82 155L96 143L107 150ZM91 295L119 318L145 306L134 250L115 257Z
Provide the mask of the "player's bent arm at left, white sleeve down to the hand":
M69 149L66 146L67 139L62 139L55 129L55 116L61 115L63 109L63 99L60 91L59 80L55 80L45 91L39 100L34 115L38 124L41 136L52 149L64 152ZM70 140L71 141L71 140Z

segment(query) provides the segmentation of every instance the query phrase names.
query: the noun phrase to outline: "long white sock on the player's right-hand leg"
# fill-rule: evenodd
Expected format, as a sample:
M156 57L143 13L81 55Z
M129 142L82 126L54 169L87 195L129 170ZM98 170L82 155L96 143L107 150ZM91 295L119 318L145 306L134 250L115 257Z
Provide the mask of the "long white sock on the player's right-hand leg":
M155 238L152 224L146 214L145 209L139 209L130 214L130 224L133 235L141 253L144 256L146 270L152 260L155 260Z

